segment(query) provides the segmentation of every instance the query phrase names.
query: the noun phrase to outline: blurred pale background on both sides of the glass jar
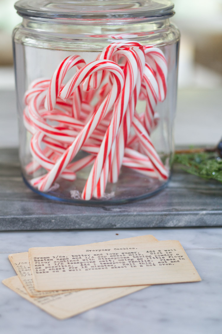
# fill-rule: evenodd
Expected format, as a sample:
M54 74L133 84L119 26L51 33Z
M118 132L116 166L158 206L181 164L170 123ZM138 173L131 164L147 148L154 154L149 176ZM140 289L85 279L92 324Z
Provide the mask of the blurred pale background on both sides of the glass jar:
M14 2L0 0L0 92L4 96L15 89L11 34L21 17ZM174 0L174 4L172 22L181 31L175 144L216 145L222 136L222 0ZM13 110L0 104L0 146L18 146L13 103Z

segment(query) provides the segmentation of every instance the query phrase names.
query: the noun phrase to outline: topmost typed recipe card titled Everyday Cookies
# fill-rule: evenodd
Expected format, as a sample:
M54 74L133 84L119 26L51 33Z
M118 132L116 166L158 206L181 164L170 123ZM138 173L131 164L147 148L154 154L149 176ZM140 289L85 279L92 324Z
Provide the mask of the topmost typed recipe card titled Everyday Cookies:
M177 240L29 249L38 291L201 281Z

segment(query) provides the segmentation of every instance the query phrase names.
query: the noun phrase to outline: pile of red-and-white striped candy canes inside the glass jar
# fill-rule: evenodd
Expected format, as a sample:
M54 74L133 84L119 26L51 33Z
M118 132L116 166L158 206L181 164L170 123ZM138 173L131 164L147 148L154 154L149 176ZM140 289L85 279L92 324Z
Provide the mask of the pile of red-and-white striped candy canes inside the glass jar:
M75 74L64 83L72 67ZM115 42L89 64L79 55L69 56L51 79L34 80L24 97L33 157L26 173L33 175L42 167L45 173L32 178L31 185L46 192L58 177L74 181L77 171L93 165L82 191L82 199L89 200L104 196L121 166L167 179L169 172L150 139L159 120L157 102L166 97L166 78L160 49ZM146 102L139 115L138 99ZM88 155L72 162L80 150Z

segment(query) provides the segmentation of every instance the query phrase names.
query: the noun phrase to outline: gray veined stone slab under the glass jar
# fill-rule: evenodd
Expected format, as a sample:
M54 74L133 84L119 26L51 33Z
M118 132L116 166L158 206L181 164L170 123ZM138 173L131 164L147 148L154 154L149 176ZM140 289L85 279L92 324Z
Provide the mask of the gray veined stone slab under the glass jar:
M0 149L0 230L222 225L222 184L174 166L167 188L134 203L80 206L48 200L23 182L17 149Z

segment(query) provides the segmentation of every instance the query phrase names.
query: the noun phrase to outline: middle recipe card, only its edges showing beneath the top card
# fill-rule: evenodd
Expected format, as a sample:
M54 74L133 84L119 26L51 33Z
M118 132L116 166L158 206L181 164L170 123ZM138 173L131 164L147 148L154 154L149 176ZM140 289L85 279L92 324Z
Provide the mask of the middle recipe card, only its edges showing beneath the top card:
M136 237L131 237L131 238L125 238L125 239L117 239L117 240L110 240L110 241L102 241L102 242L97 242L93 243L94 245L102 245L105 244L106 242L109 243L119 243L121 244L122 242L139 242L139 241L155 241L157 240L153 235L142 235L142 236L136 236ZM32 272L29 264L29 253L24 252L24 253L15 253L9 255L9 260L13 266L13 268L16 271L16 274L20 278L22 284L24 285L25 289L27 290L28 294L31 297L43 297L43 296L49 296L49 295L56 295L56 294L61 294L61 293L66 293L68 291L73 291L73 290L57 290L57 291L36 291L32 279Z

